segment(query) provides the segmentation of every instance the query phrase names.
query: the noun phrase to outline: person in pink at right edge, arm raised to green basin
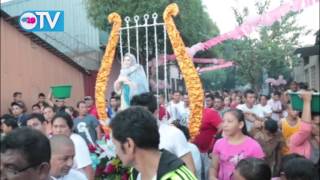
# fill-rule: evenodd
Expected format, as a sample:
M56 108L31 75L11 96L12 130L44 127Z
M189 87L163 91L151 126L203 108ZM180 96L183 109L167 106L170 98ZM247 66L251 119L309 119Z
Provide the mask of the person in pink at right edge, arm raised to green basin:
M291 153L297 153L317 162L319 160L319 124L320 116L311 116L312 92L302 91L303 111L300 129L289 140Z

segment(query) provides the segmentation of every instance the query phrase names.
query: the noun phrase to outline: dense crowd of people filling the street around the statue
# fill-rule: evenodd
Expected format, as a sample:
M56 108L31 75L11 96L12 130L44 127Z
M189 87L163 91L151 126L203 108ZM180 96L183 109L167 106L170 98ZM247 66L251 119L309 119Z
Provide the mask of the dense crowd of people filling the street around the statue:
M288 92L303 99L293 109ZM312 92L293 82L271 97L253 90L205 92L199 133L191 138L189 98L179 91L132 97L120 110L106 100L112 134L106 135L91 96L72 107L39 93L28 112L21 92L1 116L1 179L95 179L88 146L111 138L129 179L315 180L320 157L320 115Z

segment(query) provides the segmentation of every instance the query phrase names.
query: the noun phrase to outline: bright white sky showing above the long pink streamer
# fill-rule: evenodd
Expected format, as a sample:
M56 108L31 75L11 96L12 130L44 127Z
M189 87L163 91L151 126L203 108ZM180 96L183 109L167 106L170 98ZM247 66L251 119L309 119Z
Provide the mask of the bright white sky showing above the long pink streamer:
M1 0L6 2L10 0ZM284 0L288 2L290 0ZM249 16L255 16L254 3L256 0L202 0L207 7L211 19L217 24L221 33L232 31L236 26L236 21L232 12L232 7L248 7ZM280 5L280 0L272 0L270 10ZM300 39L301 45L313 45L315 41L314 33L319 30L319 3L306 8L301 14L298 14L297 21L299 25L306 26L311 33Z

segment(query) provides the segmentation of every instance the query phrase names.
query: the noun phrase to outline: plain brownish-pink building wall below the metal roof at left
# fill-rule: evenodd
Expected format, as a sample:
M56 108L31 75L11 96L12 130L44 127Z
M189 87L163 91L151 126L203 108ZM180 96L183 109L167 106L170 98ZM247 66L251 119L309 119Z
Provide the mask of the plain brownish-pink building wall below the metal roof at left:
M8 113L13 93L23 93L29 112L40 92L50 87L72 85L68 105L75 106L85 95L84 77L90 74L62 52L33 33L19 29L17 21L1 11L1 114Z

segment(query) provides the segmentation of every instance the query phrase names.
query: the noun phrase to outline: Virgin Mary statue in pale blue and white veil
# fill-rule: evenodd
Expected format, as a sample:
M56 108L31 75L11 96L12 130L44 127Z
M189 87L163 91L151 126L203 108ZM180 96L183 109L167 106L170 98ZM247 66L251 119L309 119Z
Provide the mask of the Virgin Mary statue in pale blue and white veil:
M137 63L134 55L130 53L124 55L120 75L114 83L114 90L117 94L121 94L120 110L129 107L133 96L149 92L144 69Z

